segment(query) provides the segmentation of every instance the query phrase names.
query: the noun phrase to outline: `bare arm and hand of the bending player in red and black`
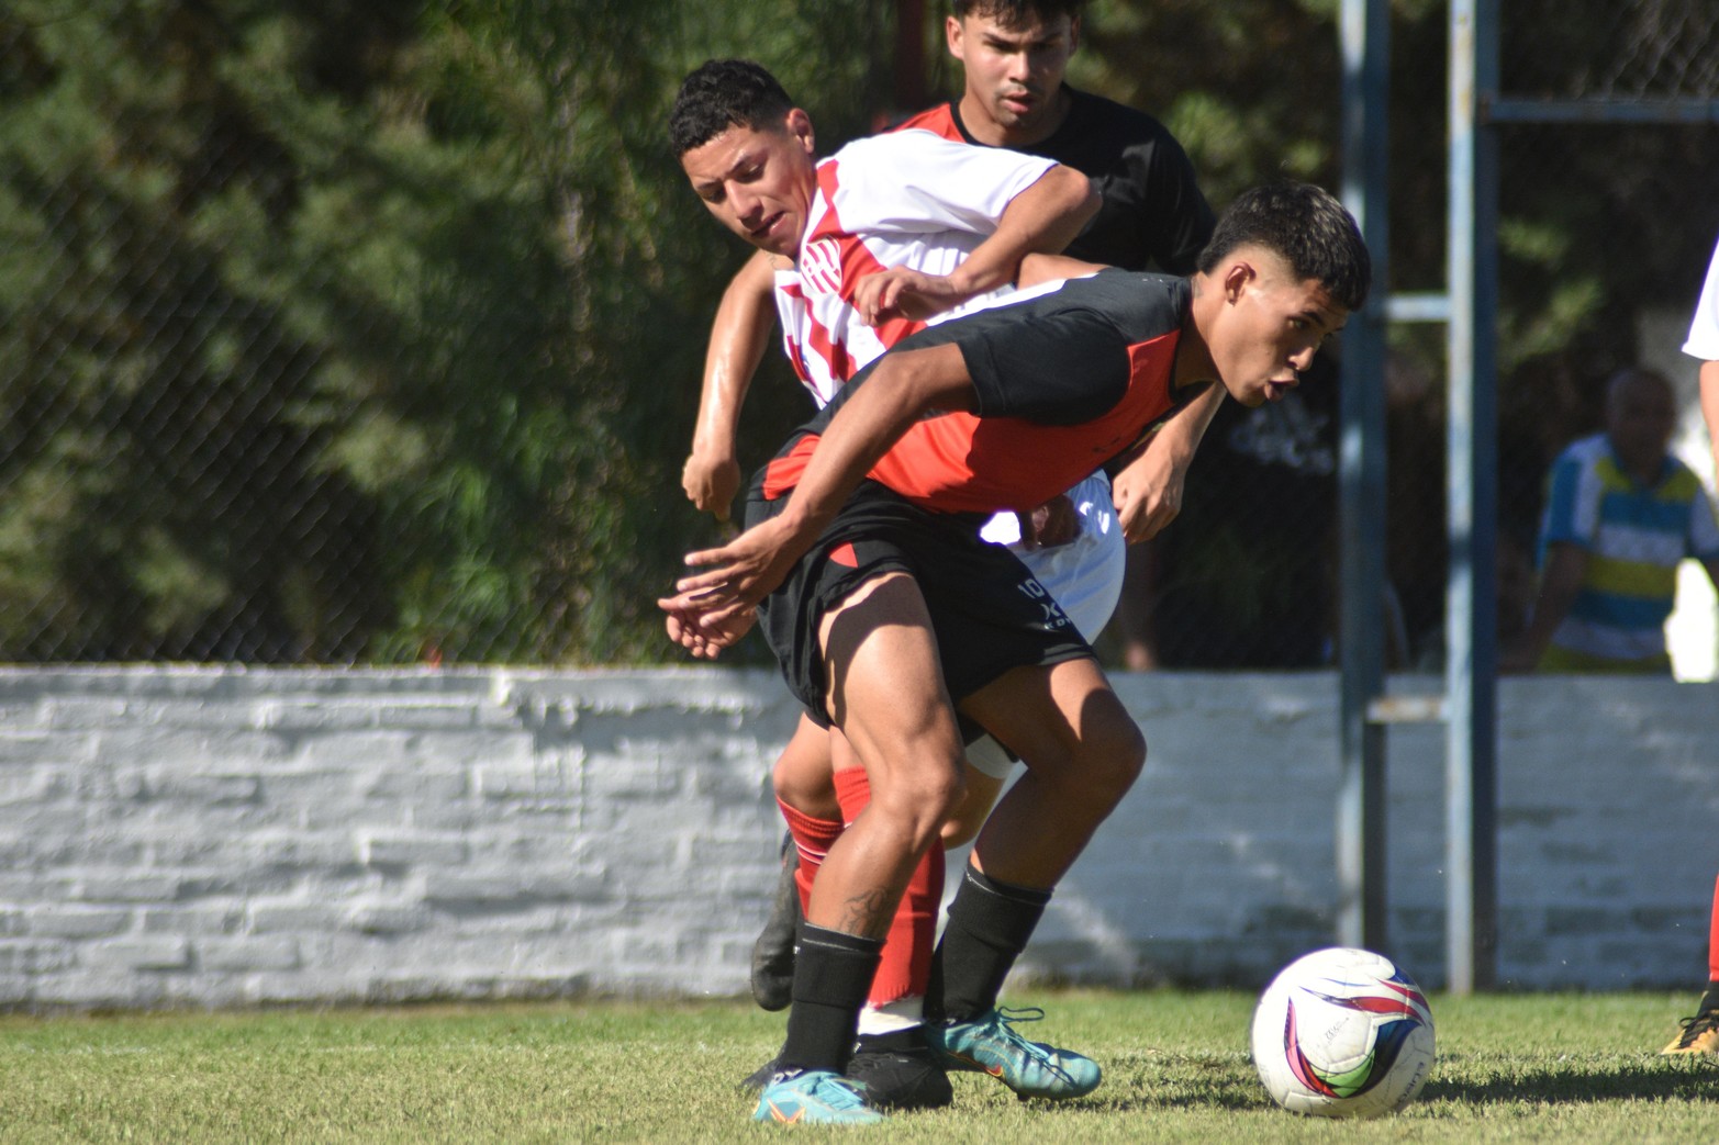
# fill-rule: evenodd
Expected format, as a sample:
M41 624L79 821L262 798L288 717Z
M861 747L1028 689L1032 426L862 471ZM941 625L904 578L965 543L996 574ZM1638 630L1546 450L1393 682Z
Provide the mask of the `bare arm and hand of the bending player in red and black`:
M720 548L688 554L701 572L676 583L657 605L684 628L722 633L786 578L835 517L872 466L923 414L971 411L973 378L952 344L889 354L830 419L780 514ZM670 633L674 636L674 633ZM681 641L684 645L684 641Z

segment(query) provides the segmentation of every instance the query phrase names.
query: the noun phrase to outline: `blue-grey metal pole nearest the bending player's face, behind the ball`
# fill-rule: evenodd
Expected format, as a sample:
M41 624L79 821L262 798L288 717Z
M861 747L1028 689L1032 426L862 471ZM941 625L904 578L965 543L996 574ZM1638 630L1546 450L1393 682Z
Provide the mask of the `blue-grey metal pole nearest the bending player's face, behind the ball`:
M1337 940L1384 951L1386 729L1368 708L1384 691L1389 0L1343 0L1341 38L1343 201L1372 253L1373 291L1343 332Z

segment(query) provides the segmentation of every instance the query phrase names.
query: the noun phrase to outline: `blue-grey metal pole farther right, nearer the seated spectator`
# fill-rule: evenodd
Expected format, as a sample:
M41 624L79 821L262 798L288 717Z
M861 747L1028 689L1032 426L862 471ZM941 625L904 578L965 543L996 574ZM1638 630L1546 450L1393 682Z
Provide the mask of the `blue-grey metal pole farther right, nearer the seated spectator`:
M1451 0L1449 593L1446 952L1449 989L1497 970L1497 91L1496 0Z

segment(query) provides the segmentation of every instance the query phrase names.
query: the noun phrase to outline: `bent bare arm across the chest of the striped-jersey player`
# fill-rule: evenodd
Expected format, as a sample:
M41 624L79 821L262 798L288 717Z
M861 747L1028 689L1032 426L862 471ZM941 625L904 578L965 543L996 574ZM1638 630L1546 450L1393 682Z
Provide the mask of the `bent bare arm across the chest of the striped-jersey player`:
M947 275L890 268L868 275L854 289L854 309L870 325L889 318L925 321L945 309L1014 282L1021 260L1055 253L1098 213L1098 193L1073 167L1052 167L1009 199L994 230Z

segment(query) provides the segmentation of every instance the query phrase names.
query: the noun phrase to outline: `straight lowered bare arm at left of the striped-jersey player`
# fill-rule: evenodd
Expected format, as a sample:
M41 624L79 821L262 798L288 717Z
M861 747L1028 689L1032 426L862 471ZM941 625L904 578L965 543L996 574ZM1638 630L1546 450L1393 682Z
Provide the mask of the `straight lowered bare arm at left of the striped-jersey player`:
M681 488L700 512L715 514L717 521L729 519L729 505L741 485L734 442L746 390L770 340L774 285L774 258L755 251L724 291L710 327L705 385L698 397L693 450L681 469Z

